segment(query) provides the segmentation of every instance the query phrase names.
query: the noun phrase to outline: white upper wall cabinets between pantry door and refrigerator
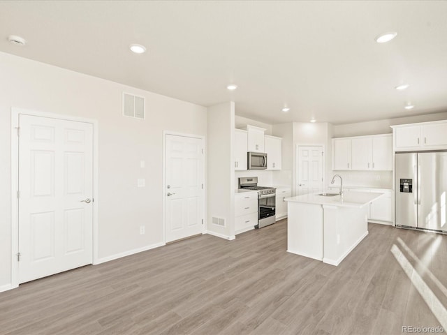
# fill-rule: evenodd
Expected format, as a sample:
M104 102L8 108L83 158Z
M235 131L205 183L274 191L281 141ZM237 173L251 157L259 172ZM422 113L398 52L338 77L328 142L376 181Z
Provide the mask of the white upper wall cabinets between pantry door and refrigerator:
M332 170L392 171L393 135L333 138Z

